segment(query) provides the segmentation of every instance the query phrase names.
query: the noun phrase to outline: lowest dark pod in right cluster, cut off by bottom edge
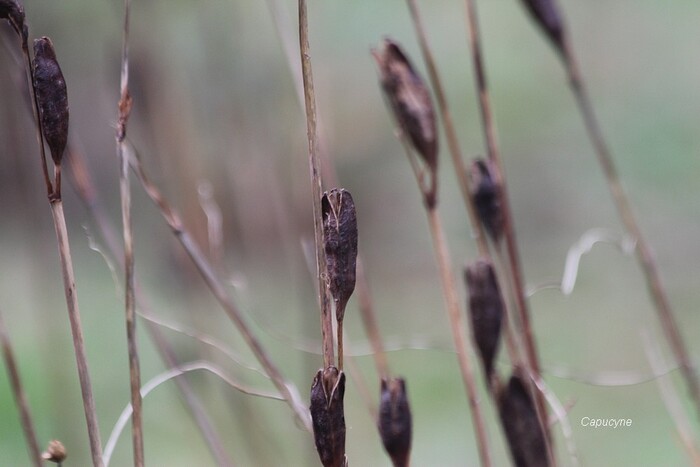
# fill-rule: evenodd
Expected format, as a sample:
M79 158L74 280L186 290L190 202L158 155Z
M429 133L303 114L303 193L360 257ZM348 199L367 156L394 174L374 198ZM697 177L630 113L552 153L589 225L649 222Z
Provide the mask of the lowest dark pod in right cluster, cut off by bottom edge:
M520 376L513 375L498 400L501 423L516 467L547 467L549 457L535 405Z

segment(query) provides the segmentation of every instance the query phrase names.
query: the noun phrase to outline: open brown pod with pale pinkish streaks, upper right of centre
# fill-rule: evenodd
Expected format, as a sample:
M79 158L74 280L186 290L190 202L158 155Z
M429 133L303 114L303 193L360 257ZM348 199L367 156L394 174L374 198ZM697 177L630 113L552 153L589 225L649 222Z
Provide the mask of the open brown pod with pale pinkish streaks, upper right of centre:
M384 40L384 49L372 51L381 83L396 120L431 171L437 169L437 130L430 92L399 45Z

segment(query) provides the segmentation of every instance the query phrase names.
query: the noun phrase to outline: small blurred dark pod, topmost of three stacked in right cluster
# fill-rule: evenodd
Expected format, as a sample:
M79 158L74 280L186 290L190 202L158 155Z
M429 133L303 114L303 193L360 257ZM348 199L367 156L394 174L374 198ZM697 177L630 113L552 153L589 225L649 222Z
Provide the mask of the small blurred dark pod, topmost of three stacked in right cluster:
M501 203L501 187L496 168L490 161L475 159L472 162L471 196L476 206L479 220L494 242L498 242L503 234L503 209Z

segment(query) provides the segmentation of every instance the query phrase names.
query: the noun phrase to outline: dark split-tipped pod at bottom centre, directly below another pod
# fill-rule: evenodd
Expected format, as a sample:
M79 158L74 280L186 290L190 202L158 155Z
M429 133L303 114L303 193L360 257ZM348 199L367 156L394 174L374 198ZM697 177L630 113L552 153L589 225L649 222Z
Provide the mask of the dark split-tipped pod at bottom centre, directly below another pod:
M316 451L324 467L345 467L345 373L318 370L311 386L311 420Z

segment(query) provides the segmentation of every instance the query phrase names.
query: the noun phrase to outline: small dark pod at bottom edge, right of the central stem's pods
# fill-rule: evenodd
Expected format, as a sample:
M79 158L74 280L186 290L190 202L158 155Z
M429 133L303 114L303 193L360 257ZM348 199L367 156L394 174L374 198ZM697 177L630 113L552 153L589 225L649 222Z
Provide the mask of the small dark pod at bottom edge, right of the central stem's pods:
M379 402L379 434L394 467L409 465L411 456L411 409L402 378L382 379Z

